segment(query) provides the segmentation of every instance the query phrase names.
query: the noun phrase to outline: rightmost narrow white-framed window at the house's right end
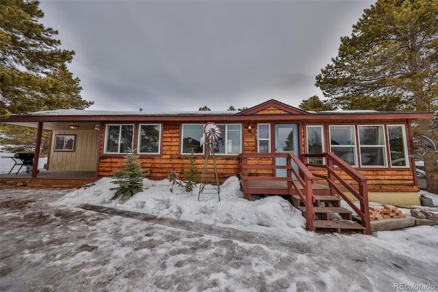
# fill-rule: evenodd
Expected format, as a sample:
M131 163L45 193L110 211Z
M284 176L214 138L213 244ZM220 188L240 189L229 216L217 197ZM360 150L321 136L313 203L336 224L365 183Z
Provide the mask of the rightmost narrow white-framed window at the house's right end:
M408 167L404 125L388 125L389 158L393 167Z

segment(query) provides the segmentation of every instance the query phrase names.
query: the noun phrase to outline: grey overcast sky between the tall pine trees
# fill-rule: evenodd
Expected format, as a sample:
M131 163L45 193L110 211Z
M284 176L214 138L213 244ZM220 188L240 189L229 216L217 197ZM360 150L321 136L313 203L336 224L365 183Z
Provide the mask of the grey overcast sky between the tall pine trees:
M91 110L227 110L322 97L315 76L375 1L46 1Z

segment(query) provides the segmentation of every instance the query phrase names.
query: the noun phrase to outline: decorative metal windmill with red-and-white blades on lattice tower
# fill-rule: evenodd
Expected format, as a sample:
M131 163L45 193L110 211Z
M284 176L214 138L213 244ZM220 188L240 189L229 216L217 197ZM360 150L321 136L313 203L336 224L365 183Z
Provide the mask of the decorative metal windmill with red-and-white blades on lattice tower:
M205 177L207 175L207 165L209 157L211 156L211 160L213 160L214 165L214 175L216 178L216 182L212 182L215 193L218 193L218 199L220 201L220 187L219 187L219 178L218 178L218 168L216 167L216 157L214 156L214 143L216 143L220 137L222 136L222 132L220 131L220 127L216 125L216 123L209 122L204 125L204 134L201 137L201 145L204 146L205 152L205 162L204 162L204 171L203 178L201 180L201 186L199 187L198 193L198 201L201 197L201 193L204 193L205 188ZM216 183L216 185L214 185Z

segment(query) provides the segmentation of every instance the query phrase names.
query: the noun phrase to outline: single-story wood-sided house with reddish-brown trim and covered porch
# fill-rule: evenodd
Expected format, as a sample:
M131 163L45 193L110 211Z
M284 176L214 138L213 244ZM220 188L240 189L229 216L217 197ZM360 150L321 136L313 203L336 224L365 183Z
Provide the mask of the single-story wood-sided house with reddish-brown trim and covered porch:
M214 122L222 132L213 146L219 180L239 177L246 198L299 196L294 189L332 181L331 191L313 186L313 193L352 197L352 186L365 185L362 195L374 202L414 205L420 199L411 123L432 118L430 112L307 112L272 99L242 111L50 110L14 114L1 122L37 127L36 149L42 129L51 131L47 171L38 173L34 164L34 179L56 172L68 173L64 179L75 173L94 180L109 176L128 148L136 149L152 180L187 170L191 149L202 173L203 125Z

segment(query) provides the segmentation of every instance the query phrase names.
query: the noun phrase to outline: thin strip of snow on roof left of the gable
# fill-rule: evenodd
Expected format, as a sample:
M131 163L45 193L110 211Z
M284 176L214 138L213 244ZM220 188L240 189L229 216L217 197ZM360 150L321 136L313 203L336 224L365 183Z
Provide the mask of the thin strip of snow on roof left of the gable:
M43 110L40 112L29 112L31 116L198 116L198 115L233 115L239 110L196 110L179 112L140 112L117 111L117 110Z

